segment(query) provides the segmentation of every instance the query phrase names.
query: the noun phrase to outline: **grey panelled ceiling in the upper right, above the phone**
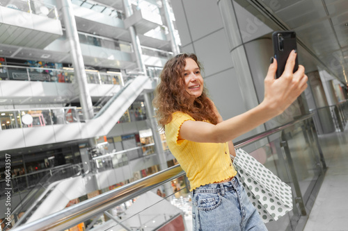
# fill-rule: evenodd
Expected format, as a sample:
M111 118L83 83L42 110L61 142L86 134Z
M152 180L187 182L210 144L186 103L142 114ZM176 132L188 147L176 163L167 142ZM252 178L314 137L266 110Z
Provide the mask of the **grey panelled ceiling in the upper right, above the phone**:
M245 0L236 0L245 6ZM244 1L242 3L241 1ZM296 32L306 50L303 62L315 62L342 83L348 83L347 0L247 0L254 15L265 15L272 28ZM347 26L346 26L347 24ZM310 55L308 55L308 53Z

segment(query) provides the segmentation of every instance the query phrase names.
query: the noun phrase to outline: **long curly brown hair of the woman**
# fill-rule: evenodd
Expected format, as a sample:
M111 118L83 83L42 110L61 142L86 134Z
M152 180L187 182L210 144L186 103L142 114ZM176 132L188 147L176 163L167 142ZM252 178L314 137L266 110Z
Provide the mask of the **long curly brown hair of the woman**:
M189 114L196 121L209 121L217 124L218 118L213 110L212 101L207 97L205 87L203 93L194 99L184 88L184 67L186 59L193 59L199 69L202 69L197 56L193 53L182 53L176 55L166 62L161 71L160 82L155 90L155 99L152 104L155 106L158 123L164 126L171 122L174 112Z

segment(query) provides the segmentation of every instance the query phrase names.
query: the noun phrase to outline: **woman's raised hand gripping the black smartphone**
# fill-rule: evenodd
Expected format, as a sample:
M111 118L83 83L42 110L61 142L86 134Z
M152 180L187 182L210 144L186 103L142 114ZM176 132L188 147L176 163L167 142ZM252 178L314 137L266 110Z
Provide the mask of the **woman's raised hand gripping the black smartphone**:
M293 74L297 53L292 51L287 58L285 70L280 78L275 79L277 61L269 65L268 73L264 78L264 103L267 108L275 113L281 114L289 107L299 95L307 88L308 77L304 73L305 69L299 65L299 69Z

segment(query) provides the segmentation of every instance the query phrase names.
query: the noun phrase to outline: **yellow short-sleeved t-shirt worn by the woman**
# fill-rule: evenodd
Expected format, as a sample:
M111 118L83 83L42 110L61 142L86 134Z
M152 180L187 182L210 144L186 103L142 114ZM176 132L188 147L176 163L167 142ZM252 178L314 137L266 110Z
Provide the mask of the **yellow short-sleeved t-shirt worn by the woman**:
M190 191L201 185L220 182L235 176L237 171L230 160L227 142L198 143L178 139L182 123L188 120L195 121L188 114L174 112L173 119L166 124L165 130L168 147L190 181Z

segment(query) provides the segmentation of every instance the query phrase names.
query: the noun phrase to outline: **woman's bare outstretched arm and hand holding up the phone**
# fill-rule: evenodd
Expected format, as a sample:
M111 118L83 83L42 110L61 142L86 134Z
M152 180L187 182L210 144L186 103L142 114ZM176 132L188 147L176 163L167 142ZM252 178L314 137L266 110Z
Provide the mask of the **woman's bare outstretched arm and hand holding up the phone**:
M180 128L179 139L204 143L229 142L283 113L307 87L308 78L303 66L299 65L299 69L292 73L296 55L295 51L290 53L285 71L278 79L274 78L277 62L274 60L271 63L264 78L264 100L258 106L216 125L185 121Z

